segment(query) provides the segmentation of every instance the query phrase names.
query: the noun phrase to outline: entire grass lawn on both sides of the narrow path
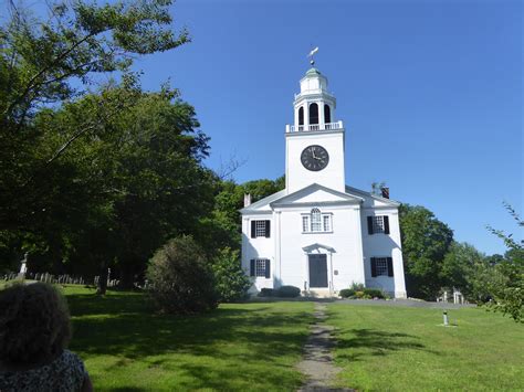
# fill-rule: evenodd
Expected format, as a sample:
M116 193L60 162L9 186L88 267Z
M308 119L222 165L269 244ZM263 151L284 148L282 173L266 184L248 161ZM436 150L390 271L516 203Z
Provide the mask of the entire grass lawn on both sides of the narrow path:
M1 283L0 283L1 286ZM313 304L221 305L202 316L155 315L139 293L64 289L71 350L96 391L293 391ZM365 391L524 390L524 326L483 309L328 305L336 386Z

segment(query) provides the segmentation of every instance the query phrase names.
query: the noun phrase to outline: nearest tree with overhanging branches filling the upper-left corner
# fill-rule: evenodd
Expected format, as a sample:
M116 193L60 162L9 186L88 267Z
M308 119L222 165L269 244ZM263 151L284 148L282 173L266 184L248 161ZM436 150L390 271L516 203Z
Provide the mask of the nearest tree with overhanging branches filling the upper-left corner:
M97 74L126 72L137 55L189 39L184 30L174 33L169 0L54 2L48 20L9 4L10 18L0 27L0 231L34 231L57 194L55 162L105 120L80 123L53 145L34 124L35 113L82 94L82 83L91 85Z

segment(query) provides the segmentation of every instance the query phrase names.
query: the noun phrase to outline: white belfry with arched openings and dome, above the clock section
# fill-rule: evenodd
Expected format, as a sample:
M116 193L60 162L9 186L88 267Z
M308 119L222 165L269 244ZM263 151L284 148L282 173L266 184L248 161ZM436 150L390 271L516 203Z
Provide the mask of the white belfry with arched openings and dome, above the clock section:
M294 125L286 127L286 133L340 129L343 124L335 121L335 108L336 98L327 89L327 78L312 67L301 80L301 92L294 100Z

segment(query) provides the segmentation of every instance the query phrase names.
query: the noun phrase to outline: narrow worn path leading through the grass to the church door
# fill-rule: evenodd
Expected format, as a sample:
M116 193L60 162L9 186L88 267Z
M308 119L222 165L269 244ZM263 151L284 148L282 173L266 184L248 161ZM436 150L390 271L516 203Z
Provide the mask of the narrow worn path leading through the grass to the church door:
M298 363L298 370L307 377L306 383L300 391L353 391L349 389L332 389L328 385L340 371L333 364L331 348L334 346L331 326L324 325L326 305L315 303L316 322L304 346L304 357Z

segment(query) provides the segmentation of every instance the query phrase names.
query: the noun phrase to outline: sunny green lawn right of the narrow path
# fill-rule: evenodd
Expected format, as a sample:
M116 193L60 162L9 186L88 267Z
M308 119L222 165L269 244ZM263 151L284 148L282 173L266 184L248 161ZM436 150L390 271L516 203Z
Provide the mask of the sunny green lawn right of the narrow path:
M374 391L524 390L524 326L483 309L332 304L338 386Z

